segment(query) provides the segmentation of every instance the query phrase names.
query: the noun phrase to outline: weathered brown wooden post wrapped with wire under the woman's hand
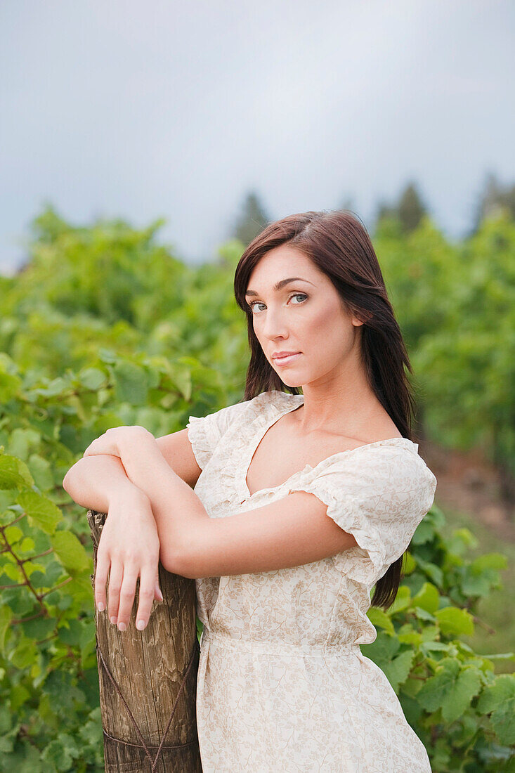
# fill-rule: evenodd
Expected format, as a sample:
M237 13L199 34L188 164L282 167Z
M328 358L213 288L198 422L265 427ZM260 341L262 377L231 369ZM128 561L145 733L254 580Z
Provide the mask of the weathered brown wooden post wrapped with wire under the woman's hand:
M107 514L87 511L97 571L97 547ZM106 773L201 773L196 731L195 581L159 564L164 601L155 604L143 631L135 604L127 630L97 611L97 662Z

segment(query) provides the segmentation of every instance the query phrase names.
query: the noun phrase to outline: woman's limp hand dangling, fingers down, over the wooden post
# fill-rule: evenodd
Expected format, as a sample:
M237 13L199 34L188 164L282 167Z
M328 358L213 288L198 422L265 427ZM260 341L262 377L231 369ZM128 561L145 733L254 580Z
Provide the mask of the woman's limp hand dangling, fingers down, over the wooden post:
M95 603L106 608L106 582L109 572L108 615L114 625L124 625L131 617L136 580L139 605L136 627L148 624L154 601L162 601L159 588L159 535L148 496L139 489L117 495L110 503L97 549ZM143 621L143 625L138 625Z

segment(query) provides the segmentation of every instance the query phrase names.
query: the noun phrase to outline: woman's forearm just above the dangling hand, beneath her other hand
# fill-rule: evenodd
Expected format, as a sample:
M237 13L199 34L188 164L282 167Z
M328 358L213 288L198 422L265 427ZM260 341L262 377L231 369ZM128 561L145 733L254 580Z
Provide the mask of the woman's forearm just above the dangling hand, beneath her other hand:
M137 493L137 486L127 477L121 458L109 454L79 459L64 476L63 489L77 505L97 512L108 512L114 496Z

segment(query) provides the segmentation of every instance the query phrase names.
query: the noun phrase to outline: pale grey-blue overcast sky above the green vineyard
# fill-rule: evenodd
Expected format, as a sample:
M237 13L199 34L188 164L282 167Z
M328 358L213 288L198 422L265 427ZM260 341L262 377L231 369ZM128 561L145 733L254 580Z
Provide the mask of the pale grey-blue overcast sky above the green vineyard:
M248 190L277 219L418 182L449 238L515 182L511 0L2 0L0 272L45 202L211 260Z

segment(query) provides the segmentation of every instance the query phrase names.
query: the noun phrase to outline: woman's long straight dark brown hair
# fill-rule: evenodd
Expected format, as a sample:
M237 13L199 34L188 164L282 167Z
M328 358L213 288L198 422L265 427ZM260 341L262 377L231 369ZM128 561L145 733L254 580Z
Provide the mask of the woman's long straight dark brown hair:
M415 400L404 366L413 373L401 329L388 300L377 256L366 228L346 210L305 212L269 223L248 245L234 274L237 305L247 315L251 362L244 400L268 390L299 394L286 386L264 356L254 333L252 310L245 301L254 267L268 250L288 243L302 251L333 282L343 304L360 320L361 356L367 379L380 404L404 438L415 442L412 421ZM377 581L371 604L387 609L393 604L402 577L403 555Z

